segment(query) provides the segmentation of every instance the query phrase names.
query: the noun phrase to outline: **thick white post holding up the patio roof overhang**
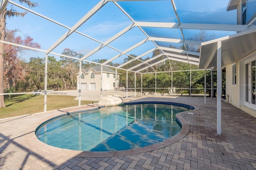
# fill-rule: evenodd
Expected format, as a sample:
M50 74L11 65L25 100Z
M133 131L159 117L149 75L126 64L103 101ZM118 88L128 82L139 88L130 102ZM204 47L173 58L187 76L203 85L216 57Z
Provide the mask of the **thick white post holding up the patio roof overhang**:
M218 135L221 135L221 94L222 94L221 41L218 41L218 49L217 49L217 133Z

